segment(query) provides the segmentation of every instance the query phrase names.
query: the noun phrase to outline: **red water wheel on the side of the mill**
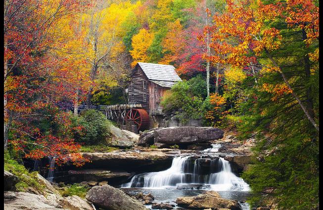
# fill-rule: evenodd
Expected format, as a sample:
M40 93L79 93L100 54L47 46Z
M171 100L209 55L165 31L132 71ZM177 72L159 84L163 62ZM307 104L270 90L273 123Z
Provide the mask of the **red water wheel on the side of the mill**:
M145 130L149 127L149 115L144 109L132 109L128 111L126 121L133 121L138 130Z

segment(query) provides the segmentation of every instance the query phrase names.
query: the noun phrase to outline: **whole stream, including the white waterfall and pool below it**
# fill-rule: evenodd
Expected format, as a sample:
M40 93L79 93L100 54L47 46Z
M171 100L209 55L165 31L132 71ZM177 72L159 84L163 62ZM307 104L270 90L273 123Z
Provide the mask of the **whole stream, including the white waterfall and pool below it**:
M230 162L219 156L225 155L218 153L220 148L221 144L212 144L212 148L198 154L176 156L170 168L137 174L121 188L131 195L140 191L151 193L155 197L154 202L174 205L178 197L214 190L225 199L237 200L243 210L249 210L245 202L250 195L249 185L231 171ZM151 205L147 208L151 209ZM182 208L176 205L175 209Z

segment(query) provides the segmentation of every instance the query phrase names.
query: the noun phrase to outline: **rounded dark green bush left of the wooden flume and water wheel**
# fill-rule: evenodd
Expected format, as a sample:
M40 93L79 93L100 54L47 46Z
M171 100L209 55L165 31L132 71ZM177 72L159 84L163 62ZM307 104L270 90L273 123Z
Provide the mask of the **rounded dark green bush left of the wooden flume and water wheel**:
M111 123L99 111L89 109L81 112L80 116L71 116L73 135L76 142L87 145L104 142L110 135ZM82 128L80 128L82 127Z

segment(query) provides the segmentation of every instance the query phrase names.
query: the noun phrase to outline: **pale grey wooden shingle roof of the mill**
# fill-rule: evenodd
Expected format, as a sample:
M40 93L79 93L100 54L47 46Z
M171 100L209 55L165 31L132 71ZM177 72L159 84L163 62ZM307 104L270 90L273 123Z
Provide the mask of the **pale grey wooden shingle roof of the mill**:
M172 65L163 65L155 63L141 63L138 62L148 80L154 81L182 81L175 72L175 67Z

